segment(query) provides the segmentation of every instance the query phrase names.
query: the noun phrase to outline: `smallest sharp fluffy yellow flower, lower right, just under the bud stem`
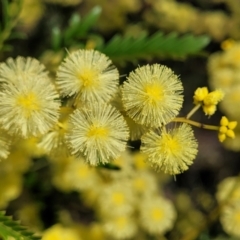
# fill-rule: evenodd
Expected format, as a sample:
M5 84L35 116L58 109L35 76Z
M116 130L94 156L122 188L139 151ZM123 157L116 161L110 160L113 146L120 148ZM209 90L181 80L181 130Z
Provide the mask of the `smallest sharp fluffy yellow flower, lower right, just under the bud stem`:
M193 163L197 146L192 128L183 123L171 130L163 128L160 135L155 131L143 135L141 150L156 169L175 175L187 170Z

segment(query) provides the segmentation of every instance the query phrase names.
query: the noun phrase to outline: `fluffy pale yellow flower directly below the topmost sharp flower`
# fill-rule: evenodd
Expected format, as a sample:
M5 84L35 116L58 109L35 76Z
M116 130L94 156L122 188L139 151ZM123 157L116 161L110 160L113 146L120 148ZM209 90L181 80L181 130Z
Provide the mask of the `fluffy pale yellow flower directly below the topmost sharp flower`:
M108 163L125 151L127 124L111 105L95 104L70 115L66 139L72 154L82 154L91 165Z

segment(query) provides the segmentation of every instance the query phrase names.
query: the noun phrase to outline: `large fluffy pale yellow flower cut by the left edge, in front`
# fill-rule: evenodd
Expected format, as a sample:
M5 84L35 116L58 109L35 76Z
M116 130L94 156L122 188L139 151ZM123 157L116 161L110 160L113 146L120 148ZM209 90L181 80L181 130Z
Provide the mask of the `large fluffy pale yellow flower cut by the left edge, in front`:
M0 92L2 128L24 138L46 133L58 120L58 97L48 78L26 75L4 84Z

